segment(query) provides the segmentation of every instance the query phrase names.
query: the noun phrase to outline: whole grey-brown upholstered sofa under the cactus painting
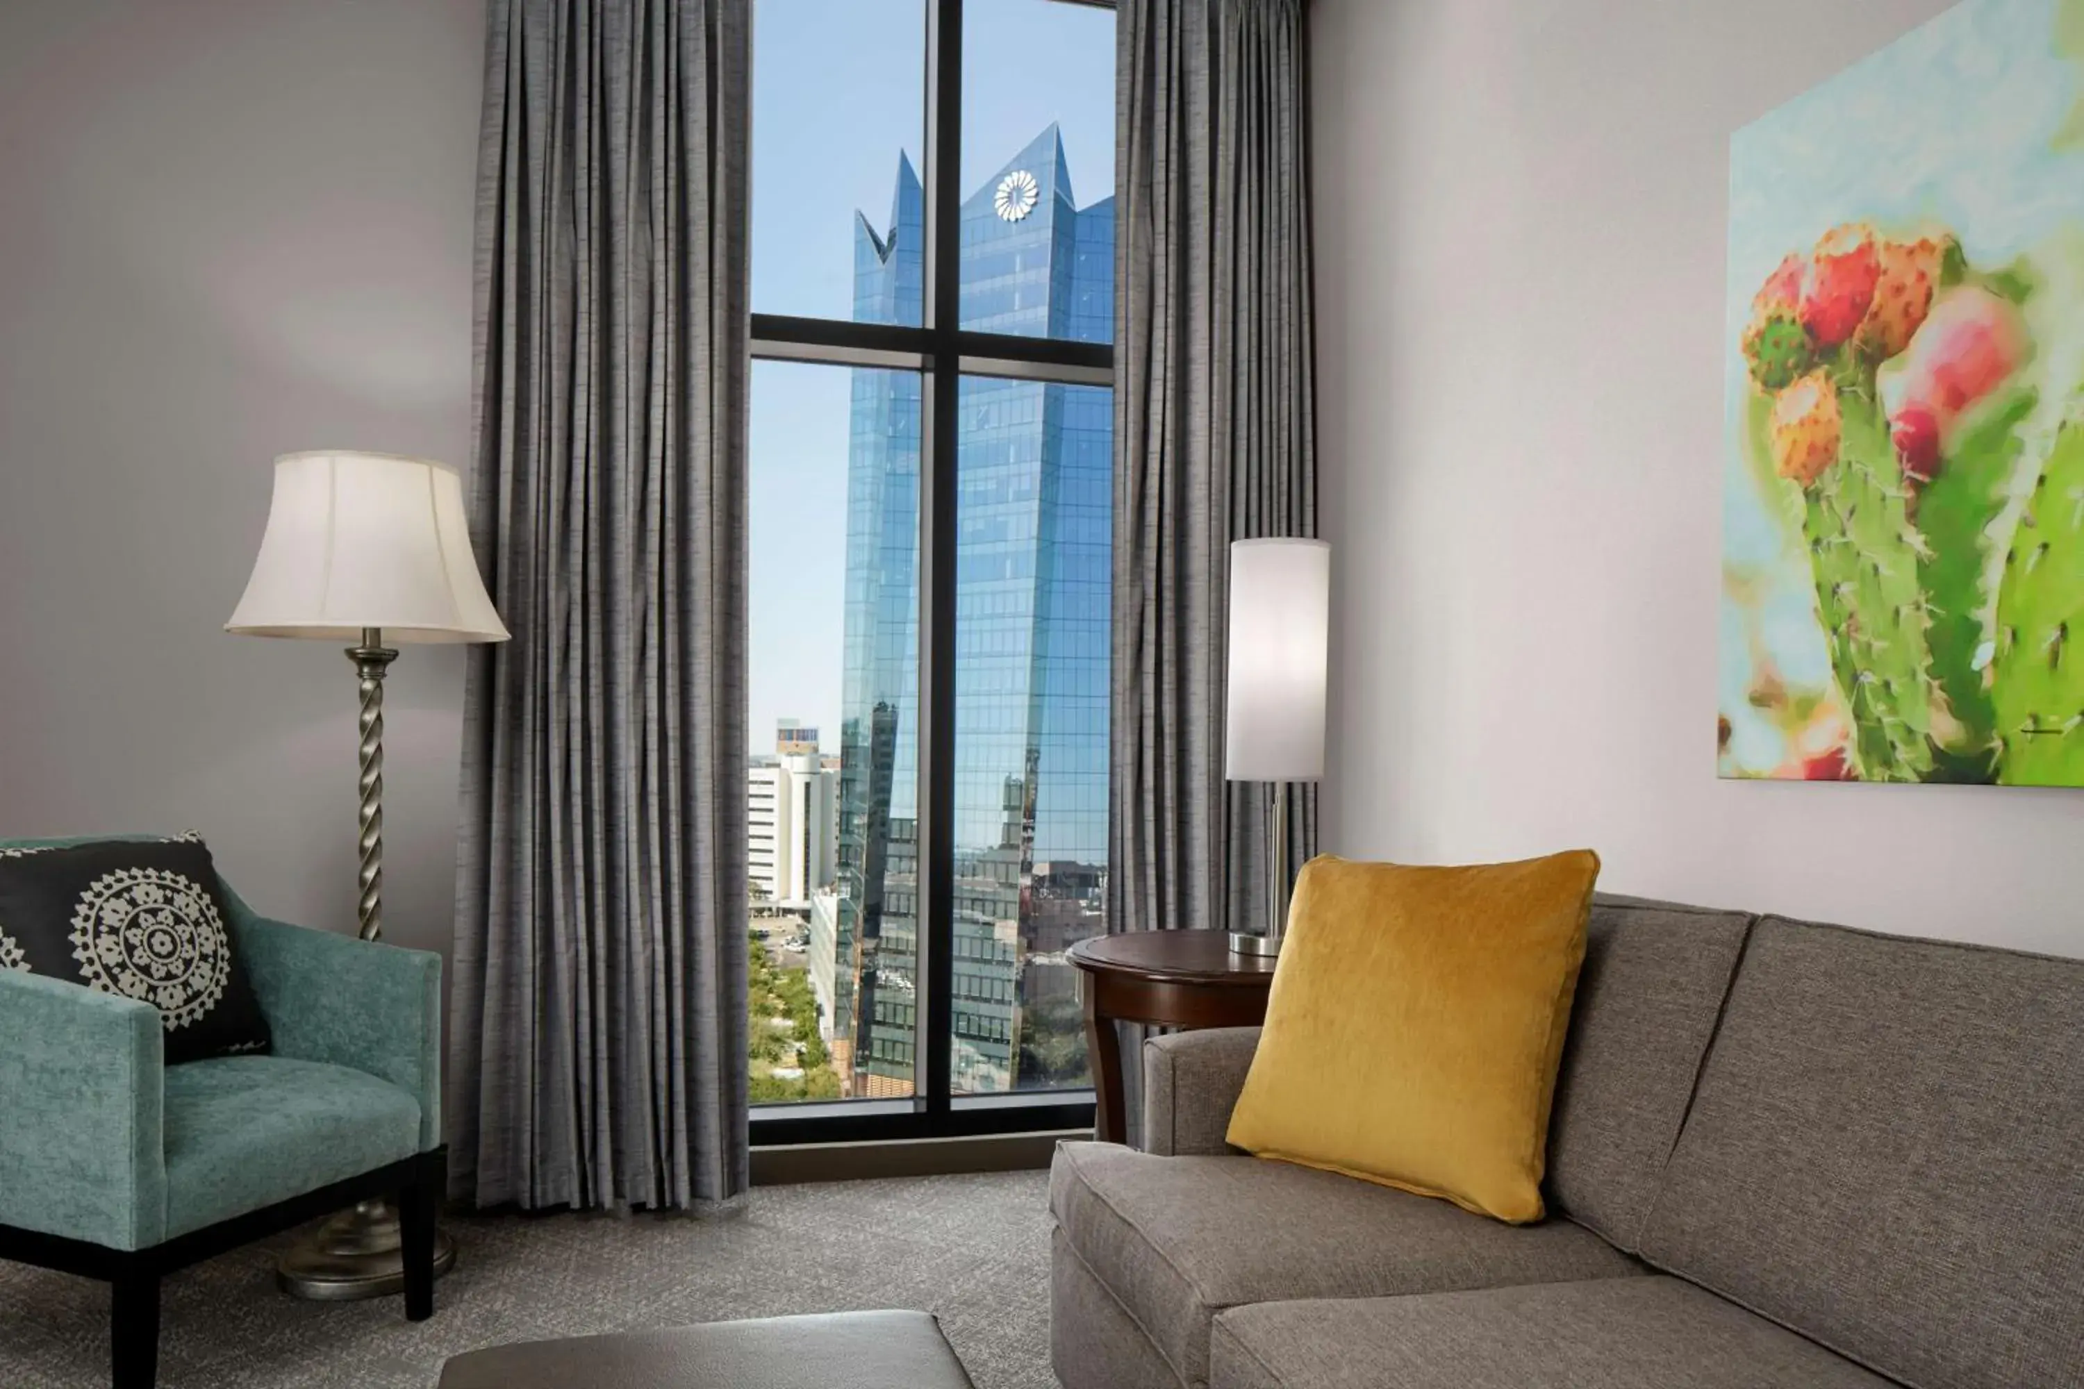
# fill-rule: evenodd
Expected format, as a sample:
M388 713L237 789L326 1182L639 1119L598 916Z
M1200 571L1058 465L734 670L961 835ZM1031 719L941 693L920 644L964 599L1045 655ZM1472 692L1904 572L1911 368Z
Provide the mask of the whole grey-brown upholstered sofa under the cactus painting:
M2084 1387L2084 960L1603 895L1519 1229L1227 1150L1255 1041L1057 1152L1065 1389Z

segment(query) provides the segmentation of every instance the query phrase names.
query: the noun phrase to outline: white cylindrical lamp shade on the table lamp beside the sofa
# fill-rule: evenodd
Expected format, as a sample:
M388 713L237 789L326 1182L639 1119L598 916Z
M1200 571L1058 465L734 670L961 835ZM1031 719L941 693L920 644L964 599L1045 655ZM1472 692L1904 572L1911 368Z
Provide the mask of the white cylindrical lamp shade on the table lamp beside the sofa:
M1323 777L1330 627L1332 546L1232 541L1223 729L1223 775L1232 781Z

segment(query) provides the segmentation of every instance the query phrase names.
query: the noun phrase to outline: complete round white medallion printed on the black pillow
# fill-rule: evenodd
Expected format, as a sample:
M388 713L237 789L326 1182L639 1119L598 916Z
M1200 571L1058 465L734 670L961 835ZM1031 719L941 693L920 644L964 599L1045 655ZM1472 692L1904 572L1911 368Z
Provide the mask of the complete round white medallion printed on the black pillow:
M88 985L158 1008L169 1033L204 1018L231 977L208 889L167 868L117 868L79 893L73 958Z

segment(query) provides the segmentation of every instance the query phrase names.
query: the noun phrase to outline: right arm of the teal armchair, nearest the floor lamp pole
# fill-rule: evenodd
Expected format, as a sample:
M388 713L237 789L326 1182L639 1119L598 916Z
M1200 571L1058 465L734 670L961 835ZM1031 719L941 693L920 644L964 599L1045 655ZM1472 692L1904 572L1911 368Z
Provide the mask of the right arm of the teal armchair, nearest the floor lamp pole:
M419 1100L419 1150L436 1147L442 956L269 920L238 898L231 927L275 1056L348 1066L408 1091Z

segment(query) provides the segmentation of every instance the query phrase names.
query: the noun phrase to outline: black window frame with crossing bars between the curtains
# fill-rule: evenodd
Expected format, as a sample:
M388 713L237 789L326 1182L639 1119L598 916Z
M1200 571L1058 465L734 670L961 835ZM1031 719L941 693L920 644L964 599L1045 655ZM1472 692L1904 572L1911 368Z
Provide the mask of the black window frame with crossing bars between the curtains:
M752 1145L859 1143L1092 1129L1092 1089L952 1095L954 1054L954 635L963 377L1115 385L1115 344L979 333L963 323L963 8L925 2L925 267L921 325L752 314L754 360L919 373L919 898L909 1100L752 1106ZM1113 10L1115 0L1050 0ZM1117 165L1119 187L1119 165ZM1119 283L1117 283L1119 296Z

